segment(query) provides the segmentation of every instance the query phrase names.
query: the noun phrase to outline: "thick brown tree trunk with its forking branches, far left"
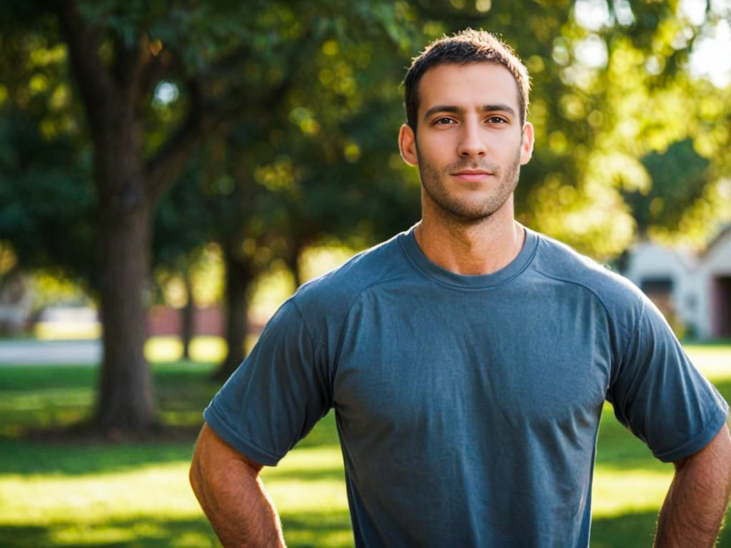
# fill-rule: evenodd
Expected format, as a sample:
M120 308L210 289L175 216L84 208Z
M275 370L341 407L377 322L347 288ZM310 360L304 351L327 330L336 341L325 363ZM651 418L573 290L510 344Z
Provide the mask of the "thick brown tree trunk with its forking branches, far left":
M96 285L104 329L94 422L109 433L135 433L157 424L153 381L143 353L151 215L204 131L202 86L193 77L186 79L186 118L145 161L141 107L156 85L154 69L162 66L162 56L151 55L146 33L139 39L130 39L137 33L124 39L105 35L100 24L104 17L86 18L80 2L45 4L58 18L94 141ZM101 54L107 46L113 50L111 61Z

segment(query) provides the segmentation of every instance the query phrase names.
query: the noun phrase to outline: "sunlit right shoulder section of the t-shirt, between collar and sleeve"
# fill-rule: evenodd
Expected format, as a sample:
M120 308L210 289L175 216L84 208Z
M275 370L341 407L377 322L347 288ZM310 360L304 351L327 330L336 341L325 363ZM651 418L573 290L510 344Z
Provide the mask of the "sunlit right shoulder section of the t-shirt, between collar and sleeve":
M645 305L645 297L634 283L567 244L538 235L539 245L534 270L546 278L583 287L610 311Z

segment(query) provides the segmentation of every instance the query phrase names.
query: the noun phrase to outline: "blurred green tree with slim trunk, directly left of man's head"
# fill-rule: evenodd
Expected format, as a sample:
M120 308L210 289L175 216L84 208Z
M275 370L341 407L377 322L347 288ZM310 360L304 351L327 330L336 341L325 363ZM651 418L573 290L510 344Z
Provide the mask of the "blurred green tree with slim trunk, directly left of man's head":
M385 8L374 15L379 6ZM393 46L402 46L385 30L399 15L387 3L371 8L329 13L326 3L314 4L289 19L322 28L296 42L307 62L293 66L282 94L250 100L225 132L207 140L194 159L200 175L195 189L176 186L170 193L200 196L192 203L208 221L182 222L167 232L184 240L186 230L205 225L224 256L229 351L219 376L243 359L250 287L271 262L285 262L296 277L303 248L326 235L370 243L417 218L418 187L404 183L403 170L387 167L395 141L384 139L403 117L403 61L393 56ZM292 29L283 23L280 32ZM249 62L249 85L260 85L267 67Z

